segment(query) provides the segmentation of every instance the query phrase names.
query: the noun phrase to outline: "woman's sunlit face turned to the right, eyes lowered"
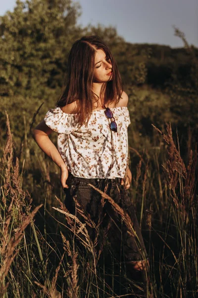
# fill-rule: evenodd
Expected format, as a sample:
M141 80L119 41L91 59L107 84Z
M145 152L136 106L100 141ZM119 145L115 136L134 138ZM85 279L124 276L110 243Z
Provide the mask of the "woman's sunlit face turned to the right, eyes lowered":
M99 49L95 55L94 82L103 83L112 79L111 61L103 50Z

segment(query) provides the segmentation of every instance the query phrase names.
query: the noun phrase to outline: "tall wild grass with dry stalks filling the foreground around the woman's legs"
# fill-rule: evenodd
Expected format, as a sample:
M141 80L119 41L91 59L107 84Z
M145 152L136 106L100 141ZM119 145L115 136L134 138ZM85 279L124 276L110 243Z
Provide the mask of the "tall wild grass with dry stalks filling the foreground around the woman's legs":
M197 297L197 150L187 142L184 162L171 125L164 133L154 127L153 133L159 146L130 148L130 193L149 255L143 291L115 257L107 237L110 225L99 237L102 214L96 225L75 197L76 212L87 224L66 210L56 168L37 153L31 134L17 153L7 117L0 163L0 297ZM102 204L108 200L134 233L128 213L105 191L101 195ZM96 229L95 239L87 226Z

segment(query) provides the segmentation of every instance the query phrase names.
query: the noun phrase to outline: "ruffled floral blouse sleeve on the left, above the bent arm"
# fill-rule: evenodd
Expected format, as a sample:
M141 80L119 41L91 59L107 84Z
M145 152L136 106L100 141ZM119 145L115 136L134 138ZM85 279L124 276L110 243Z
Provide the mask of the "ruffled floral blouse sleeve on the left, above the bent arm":
M76 129L75 114L66 114L60 107L50 109L44 120L50 129L59 134L69 135Z

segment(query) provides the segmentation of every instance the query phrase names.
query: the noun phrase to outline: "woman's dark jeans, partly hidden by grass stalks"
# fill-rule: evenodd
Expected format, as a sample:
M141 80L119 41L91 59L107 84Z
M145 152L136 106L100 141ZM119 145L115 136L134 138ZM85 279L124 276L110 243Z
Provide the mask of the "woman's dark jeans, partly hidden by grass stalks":
M136 218L134 206L131 202L128 190L120 184L121 178L102 179L102 178L81 178L74 177L69 173L67 184L69 188L65 188L65 207L71 214L76 214L77 218L85 223L84 217L76 213L76 203L73 197L80 203L85 214L97 225L99 221L99 229L86 224L90 238L95 239L97 235L103 235L105 228L110 223L107 237L111 243L115 253L120 255L120 251L124 252L124 260L140 261L146 259L147 252L142 238L141 230ZM107 199L104 199L102 206L102 196L99 192L93 189L88 183L94 185L99 190L105 190L105 193L110 196L113 201L118 204L131 218L133 228L129 230L121 216L115 211ZM99 230L99 232L98 232ZM135 231L135 232L134 232ZM121 249L122 248L122 249Z

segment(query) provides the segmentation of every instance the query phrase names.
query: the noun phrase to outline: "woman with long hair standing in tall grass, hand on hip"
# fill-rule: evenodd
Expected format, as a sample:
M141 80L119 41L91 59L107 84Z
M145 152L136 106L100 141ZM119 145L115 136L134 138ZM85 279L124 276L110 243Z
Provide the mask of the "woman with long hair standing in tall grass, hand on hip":
M85 36L73 44L64 86L57 106L35 128L35 140L60 167L65 204L71 213L75 214L75 195L85 212L98 222L101 195L89 183L105 190L128 210L136 236L128 232L124 222L120 232L117 226L121 226L121 219L108 202L104 205L106 218L112 219L108 237L120 250L117 241L122 233L128 268L142 272L147 252L127 191L132 180L128 167L128 96L116 62L99 36ZM58 133L58 149L49 140L52 131ZM76 216L83 221L80 214ZM93 239L94 229L87 228Z

